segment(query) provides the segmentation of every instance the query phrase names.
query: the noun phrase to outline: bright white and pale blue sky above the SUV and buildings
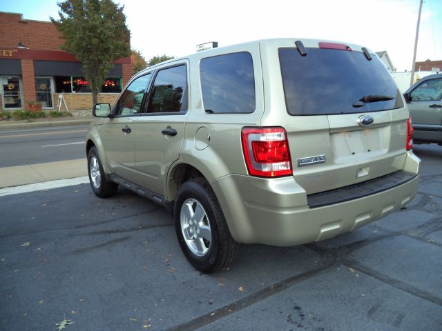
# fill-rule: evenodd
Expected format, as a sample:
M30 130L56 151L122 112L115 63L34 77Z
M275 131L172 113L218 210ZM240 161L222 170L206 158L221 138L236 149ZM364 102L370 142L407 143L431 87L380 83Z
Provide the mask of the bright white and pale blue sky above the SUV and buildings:
M23 19L58 17L57 0L0 0ZM398 72L412 68L419 0L120 0L131 47L146 60L267 38L312 38L386 50ZM423 2L416 61L442 60L442 0Z

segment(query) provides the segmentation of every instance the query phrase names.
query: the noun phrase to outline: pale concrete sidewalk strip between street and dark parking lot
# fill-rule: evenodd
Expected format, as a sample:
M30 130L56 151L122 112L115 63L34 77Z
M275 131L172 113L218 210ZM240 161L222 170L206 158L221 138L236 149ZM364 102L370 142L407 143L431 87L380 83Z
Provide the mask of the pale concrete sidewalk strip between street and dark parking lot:
M0 188L88 176L84 159L0 168Z

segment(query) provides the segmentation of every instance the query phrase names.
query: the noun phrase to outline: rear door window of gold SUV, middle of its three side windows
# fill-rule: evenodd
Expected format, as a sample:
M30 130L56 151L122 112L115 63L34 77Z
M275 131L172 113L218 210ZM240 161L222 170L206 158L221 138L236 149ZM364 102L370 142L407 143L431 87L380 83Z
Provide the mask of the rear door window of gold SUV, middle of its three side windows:
M147 112L185 112L186 110L186 66L160 70L153 82Z

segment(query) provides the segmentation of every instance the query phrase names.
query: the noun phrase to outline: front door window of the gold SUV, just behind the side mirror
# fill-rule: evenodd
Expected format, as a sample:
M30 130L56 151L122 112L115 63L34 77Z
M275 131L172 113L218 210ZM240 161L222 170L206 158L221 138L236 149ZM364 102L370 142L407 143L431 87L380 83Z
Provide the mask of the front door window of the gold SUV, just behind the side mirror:
M151 80L151 74L148 73L142 77L135 79L122 93L115 106L115 115L128 116L139 114L146 86Z

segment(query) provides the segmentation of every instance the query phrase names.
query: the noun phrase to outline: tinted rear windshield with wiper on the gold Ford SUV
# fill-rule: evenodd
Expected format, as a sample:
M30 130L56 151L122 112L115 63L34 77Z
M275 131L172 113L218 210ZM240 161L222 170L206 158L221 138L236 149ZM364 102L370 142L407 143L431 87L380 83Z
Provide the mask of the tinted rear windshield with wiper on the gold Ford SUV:
M402 108L396 83L376 57L363 52L280 48L287 111L292 115L351 114ZM385 100L392 98L391 100Z

